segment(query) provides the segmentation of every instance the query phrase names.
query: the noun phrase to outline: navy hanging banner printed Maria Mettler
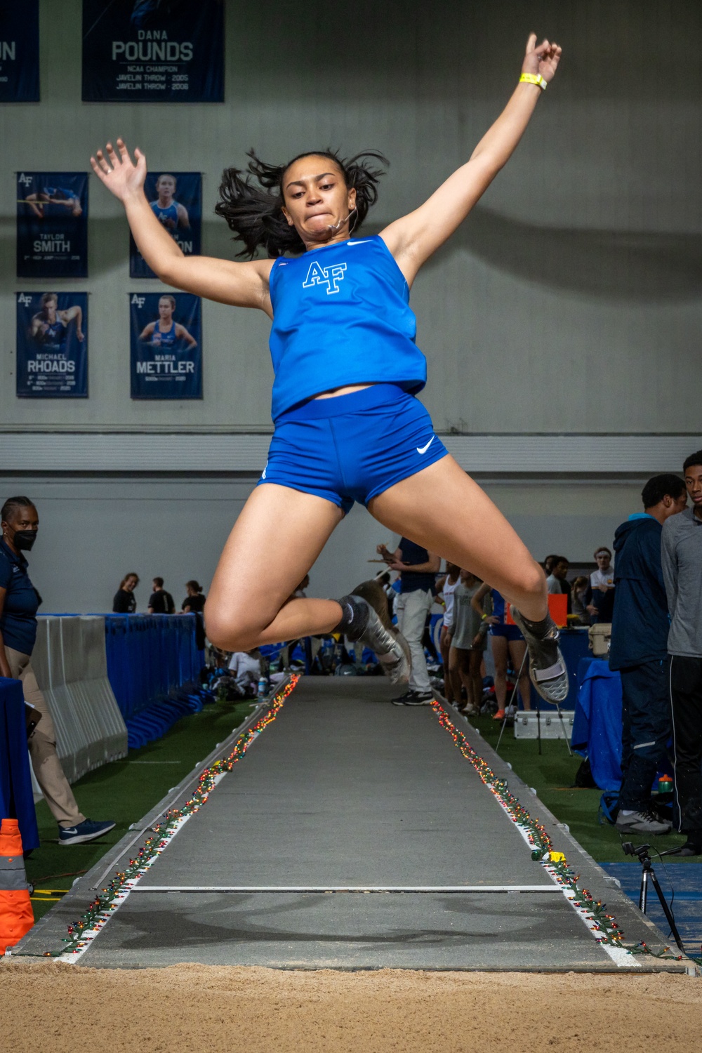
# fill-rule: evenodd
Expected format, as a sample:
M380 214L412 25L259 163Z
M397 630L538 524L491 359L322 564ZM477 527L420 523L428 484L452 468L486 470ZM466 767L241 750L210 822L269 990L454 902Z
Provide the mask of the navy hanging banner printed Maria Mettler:
M200 297L129 293L132 398L202 398Z

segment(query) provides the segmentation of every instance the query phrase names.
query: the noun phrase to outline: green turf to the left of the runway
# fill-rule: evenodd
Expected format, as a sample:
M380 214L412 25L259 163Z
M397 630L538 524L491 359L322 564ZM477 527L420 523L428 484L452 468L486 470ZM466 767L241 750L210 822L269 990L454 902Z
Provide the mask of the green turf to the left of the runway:
M92 819L114 819L108 834L88 845L62 847L46 803L37 804L41 843L26 860L27 879L37 890L35 918L46 913L76 877L89 870L113 845L204 760L250 712L250 703L215 702L201 713L183 717L163 738L89 772L73 787L78 807ZM40 890L44 890L41 892Z

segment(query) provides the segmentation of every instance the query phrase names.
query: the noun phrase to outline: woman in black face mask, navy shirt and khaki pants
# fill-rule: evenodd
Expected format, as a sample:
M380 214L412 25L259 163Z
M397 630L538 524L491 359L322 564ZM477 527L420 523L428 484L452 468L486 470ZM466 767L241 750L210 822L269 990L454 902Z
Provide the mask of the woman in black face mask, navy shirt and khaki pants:
M24 556L39 530L39 516L28 497L5 501L0 529L0 675L21 680L25 701L41 714L27 743L34 774L59 824L59 845L81 845L106 834L115 823L86 819L78 808L56 753L52 715L32 669L41 597L29 580Z

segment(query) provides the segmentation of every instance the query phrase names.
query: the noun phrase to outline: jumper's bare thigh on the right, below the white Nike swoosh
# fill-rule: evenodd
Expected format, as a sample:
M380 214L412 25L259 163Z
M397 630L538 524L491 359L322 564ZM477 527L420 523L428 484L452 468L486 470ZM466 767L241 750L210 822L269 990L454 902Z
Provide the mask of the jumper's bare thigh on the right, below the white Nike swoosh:
M368 511L396 534L473 571L500 592L510 591L516 567L533 573L524 542L450 455L374 497Z

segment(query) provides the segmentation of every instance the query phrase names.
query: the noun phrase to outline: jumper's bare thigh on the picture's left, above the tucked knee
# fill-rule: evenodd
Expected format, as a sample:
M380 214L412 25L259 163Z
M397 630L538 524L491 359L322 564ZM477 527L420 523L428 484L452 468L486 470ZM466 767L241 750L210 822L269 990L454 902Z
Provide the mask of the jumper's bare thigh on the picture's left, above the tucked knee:
M315 494L277 483L257 486L220 556L207 612L240 619L255 603L257 620L267 624L342 518L341 509Z

